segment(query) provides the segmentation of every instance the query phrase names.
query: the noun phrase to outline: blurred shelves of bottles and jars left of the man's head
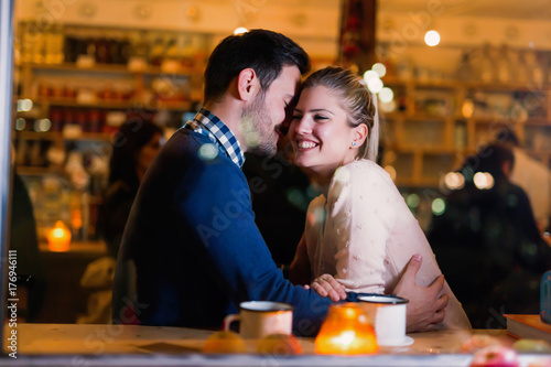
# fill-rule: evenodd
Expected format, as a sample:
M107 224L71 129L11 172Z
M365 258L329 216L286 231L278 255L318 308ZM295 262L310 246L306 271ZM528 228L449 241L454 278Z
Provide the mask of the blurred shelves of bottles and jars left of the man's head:
M80 31L86 31L87 37L111 36L109 30L99 28ZM207 39L202 45L208 45ZM202 48L196 51L197 55L204 53ZM147 54L144 58L130 57L127 64L104 64L80 55L75 62L15 65L15 97L32 101L31 110L15 116L15 172L25 181L33 199L41 239L58 219L72 228L75 240L97 239L107 165L120 123L128 118L150 119L156 115L155 121L165 125L170 133L203 97L201 57L164 54L153 63ZM40 122L45 122L46 128L42 130ZM84 186L67 170L75 153L88 174ZM102 169L93 164L98 161Z

